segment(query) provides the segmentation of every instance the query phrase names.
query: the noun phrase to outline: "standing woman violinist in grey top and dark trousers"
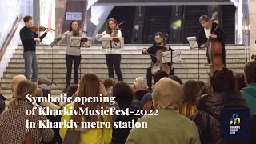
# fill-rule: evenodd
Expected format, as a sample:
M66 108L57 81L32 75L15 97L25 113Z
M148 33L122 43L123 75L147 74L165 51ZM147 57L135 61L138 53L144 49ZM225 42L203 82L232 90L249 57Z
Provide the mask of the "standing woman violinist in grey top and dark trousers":
M78 22L72 21L70 23L70 30L67 31L66 39L67 39L67 45L66 45L66 88L63 90L63 92L67 91L67 88L70 86L71 81L71 71L72 71L72 63L74 61L74 84L78 84L78 69L81 62L81 49L80 47L70 47L70 38L79 36L82 37L82 30L78 29ZM78 33L78 34L76 34Z

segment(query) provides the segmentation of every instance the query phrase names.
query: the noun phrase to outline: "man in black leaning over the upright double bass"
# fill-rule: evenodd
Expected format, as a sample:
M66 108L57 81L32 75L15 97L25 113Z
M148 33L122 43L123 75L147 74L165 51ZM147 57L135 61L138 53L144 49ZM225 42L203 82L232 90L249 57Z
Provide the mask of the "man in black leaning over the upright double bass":
M217 29L214 31L214 34L210 34L210 19L207 15L202 15L199 18L199 22L202 25L202 28L199 30L198 34L198 46L200 48L204 49L206 48L206 42L209 38L217 38L218 41L222 44L222 62L224 66L226 66L226 50L225 50L225 40L226 40L226 34L224 33L224 30L222 30L222 27L219 26L217 23L212 22L211 30L214 31L217 27ZM210 64L210 57L208 51L206 51L206 56L208 63Z

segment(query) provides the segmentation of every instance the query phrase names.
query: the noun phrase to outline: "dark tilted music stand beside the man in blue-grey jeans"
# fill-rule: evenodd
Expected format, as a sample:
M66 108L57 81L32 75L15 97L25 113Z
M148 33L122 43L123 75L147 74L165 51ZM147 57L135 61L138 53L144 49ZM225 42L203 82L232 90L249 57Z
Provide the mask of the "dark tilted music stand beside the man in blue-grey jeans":
M51 47L51 82L50 82L50 85L52 86L52 84L54 84L59 90L61 90L61 89L57 86L56 82L54 82L54 47L59 46L65 37L66 37L66 34L60 34L49 45Z

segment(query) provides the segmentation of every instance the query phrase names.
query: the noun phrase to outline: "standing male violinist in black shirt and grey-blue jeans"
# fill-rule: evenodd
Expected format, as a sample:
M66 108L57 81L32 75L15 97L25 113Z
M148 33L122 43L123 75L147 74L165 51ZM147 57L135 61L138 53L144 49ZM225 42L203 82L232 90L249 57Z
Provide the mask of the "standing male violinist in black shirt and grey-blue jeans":
M23 58L25 61L25 77L30 79L31 68L33 71L32 82L38 81L38 57L36 54L36 41L41 42L46 37L48 30L41 37L33 33L30 27L33 26L33 18L29 15L23 18L25 26L20 30L20 38L23 43Z

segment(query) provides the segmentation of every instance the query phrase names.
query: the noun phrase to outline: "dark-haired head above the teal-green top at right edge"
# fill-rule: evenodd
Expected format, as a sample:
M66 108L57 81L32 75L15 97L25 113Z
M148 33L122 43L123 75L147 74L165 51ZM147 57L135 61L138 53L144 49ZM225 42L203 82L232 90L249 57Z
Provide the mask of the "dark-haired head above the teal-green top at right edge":
M246 63L244 73L246 84L256 83L256 61Z

